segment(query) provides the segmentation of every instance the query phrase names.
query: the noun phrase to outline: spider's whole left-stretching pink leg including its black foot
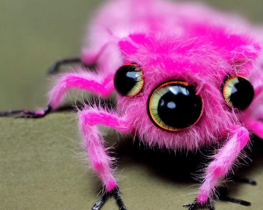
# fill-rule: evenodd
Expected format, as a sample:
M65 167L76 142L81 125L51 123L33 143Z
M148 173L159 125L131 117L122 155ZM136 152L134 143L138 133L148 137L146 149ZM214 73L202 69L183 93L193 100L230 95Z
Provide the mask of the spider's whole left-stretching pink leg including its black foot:
M65 95L65 93L71 88L78 88L80 90L87 90L94 95L100 95L102 97L108 97L114 90L113 75L107 77L100 76L92 72L81 73L66 73L63 74L57 84L49 92L49 101L45 109L34 112L28 110L15 110L9 112L2 112L0 116L7 114L21 113L18 118L39 118L44 117L51 110L58 107L59 102Z

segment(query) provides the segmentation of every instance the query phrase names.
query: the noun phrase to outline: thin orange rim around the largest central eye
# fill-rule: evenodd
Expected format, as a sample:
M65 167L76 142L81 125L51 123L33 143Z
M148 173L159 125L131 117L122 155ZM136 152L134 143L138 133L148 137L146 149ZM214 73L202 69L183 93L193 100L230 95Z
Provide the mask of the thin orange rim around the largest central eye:
M152 97L153 97L153 95L154 95L154 93L156 91L158 91L161 88L163 88L165 86L168 86L170 84L180 84L180 85L184 85L184 86L189 86L189 84L187 82L181 81L181 80L168 80L168 81L165 81L165 82L159 84L150 93L150 96L149 96L148 101L147 101L147 112L148 112L148 116L150 116L151 121L156 125L156 127L161 128L162 130L165 130L166 132L175 133L175 132L181 132L181 131L187 130L187 129L193 127L197 122L199 122L200 118L203 116L204 106L203 106L203 99L202 99L201 95L197 95L201 99L202 108L201 108L201 112L200 112L200 115L199 115L198 119L193 124L191 124L190 126L188 126L186 128L180 128L180 129L177 129L177 130L168 129L168 128L163 127L162 125L160 125L160 123L158 123L156 121L156 119L153 116L153 113L151 112L151 109L150 109L150 107L151 107L151 99L152 99Z

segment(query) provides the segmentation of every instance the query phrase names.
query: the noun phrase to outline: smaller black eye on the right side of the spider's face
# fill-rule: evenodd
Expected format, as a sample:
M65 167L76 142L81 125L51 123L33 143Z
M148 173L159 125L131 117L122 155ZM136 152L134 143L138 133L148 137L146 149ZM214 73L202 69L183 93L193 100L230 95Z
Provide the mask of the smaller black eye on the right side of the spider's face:
M254 89L245 77L230 76L225 82L223 95L229 106L244 109L251 103Z

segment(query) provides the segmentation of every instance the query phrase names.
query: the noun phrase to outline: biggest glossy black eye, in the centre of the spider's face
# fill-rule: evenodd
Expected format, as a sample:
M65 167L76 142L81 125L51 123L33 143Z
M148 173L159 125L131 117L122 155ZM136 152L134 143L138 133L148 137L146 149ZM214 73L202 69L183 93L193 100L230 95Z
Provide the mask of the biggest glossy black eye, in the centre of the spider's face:
M159 128L184 130L201 117L202 99L188 83L178 80L158 85L148 99L148 114Z

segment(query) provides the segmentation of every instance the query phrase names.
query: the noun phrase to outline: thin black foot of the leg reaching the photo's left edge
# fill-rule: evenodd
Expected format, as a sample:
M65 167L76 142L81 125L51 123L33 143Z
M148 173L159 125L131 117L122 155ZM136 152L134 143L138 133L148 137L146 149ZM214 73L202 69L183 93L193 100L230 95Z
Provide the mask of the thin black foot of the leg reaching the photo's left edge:
M40 118L48 114L51 111L51 109L52 107L48 105L43 111L39 111L39 112L32 112L32 111L28 111L27 109L11 110L7 112L0 112L0 117L7 116L9 114L21 114L15 118Z

